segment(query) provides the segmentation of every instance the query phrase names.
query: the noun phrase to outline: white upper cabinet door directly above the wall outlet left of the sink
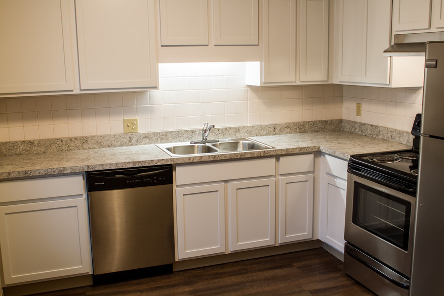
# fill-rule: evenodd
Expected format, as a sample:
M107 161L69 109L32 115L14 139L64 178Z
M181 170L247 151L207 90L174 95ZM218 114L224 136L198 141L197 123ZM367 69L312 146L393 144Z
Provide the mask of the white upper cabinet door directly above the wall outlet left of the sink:
M157 86L154 0L77 0L81 90Z

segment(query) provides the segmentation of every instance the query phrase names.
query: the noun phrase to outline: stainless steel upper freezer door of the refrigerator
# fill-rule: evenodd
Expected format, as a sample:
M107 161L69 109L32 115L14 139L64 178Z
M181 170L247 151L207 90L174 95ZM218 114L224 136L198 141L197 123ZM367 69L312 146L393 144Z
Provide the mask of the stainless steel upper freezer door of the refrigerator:
M436 68L425 68L421 132L444 138L444 43L428 43L425 58L436 60Z

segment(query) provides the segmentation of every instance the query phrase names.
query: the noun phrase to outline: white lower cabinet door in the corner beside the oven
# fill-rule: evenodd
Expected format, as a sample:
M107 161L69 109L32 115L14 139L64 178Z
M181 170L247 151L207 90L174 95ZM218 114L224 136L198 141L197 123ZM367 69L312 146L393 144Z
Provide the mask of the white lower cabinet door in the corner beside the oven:
M324 175L321 188L320 239L344 253L347 183Z

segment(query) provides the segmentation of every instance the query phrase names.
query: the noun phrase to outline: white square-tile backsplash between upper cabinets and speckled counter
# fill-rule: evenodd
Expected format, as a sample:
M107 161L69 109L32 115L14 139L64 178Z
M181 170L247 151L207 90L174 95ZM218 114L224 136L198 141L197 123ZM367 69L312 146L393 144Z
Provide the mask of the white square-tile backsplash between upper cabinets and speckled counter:
M0 99L0 141L347 119L410 130L422 89L342 85L249 87L245 63L159 65L160 89ZM356 103L362 116L356 116Z

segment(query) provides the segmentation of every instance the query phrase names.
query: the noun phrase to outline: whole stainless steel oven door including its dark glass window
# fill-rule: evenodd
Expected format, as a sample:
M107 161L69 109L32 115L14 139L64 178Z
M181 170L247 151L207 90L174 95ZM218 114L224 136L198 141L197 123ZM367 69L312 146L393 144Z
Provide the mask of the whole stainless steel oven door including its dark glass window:
M410 277L413 196L348 173L345 240Z

